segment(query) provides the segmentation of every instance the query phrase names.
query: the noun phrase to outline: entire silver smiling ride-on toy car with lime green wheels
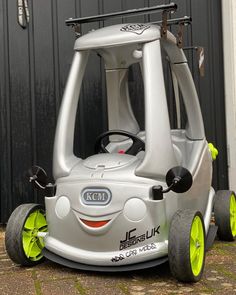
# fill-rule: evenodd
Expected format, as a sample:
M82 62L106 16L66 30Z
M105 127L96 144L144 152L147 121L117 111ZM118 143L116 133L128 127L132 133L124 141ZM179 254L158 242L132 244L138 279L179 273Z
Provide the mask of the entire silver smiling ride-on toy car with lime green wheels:
M39 204L20 205L6 228L6 250L17 264L46 257L94 271L144 269L169 261L180 281L196 282L216 232L234 240L233 191L215 192L212 161L217 154L205 137L198 95L183 49L183 26L168 19L173 3L112 14L69 19L77 34L86 22L162 12L156 23L103 27L79 36L57 123L53 173L33 166L30 182L45 192ZM180 27L178 37L167 30ZM91 52L104 61L108 131L95 153L75 156L74 127L85 68ZM162 55L167 56L187 115L185 128L170 128ZM145 130L130 102L128 69L139 64L144 85Z

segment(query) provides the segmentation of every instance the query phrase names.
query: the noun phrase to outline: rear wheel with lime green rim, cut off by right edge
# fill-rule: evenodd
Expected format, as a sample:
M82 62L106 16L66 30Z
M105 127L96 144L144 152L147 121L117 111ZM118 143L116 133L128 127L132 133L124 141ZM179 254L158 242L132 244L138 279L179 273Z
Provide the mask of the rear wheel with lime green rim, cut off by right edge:
M222 190L216 193L214 216L220 240L234 241L236 237L236 197L233 191Z

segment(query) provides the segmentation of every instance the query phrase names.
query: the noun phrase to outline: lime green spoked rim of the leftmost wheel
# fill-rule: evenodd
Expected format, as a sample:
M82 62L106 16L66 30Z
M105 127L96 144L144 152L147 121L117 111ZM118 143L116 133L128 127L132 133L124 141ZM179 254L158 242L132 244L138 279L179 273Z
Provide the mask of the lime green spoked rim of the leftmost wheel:
M47 231L47 221L42 210L32 212L26 219L22 231L22 243L25 255L32 261L40 260L43 255L44 242L38 237L38 232Z

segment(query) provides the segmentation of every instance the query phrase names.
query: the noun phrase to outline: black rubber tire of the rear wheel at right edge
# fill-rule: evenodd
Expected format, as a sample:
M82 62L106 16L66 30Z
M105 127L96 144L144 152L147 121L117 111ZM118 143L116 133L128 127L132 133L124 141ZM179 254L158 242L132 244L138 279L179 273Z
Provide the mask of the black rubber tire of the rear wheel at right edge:
M234 241L232 229L230 226L230 198L234 196L233 191L217 191L214 203L215 224L218 226L217 235L222 241Z

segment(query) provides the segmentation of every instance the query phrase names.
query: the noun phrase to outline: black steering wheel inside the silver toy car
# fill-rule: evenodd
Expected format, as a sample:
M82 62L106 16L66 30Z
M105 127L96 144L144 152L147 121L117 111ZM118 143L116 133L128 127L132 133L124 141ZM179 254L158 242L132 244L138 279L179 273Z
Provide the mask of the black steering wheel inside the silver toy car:
M106 139L107 137L111 135L122 135L122 136L130 138L133 141L131 147L129 147L127 151L125 151L125 154L137 155L137 153L139 153L140 151L145 151L145 143L137 135L134 135L130 132L123 131L123 130L109 130L99 135L98 138L96 139L96 143L95 143L96 154L101 152L109 153L109 151L105 147L107 143L106 144L104 143L104 139Z

